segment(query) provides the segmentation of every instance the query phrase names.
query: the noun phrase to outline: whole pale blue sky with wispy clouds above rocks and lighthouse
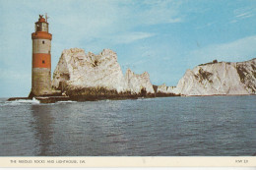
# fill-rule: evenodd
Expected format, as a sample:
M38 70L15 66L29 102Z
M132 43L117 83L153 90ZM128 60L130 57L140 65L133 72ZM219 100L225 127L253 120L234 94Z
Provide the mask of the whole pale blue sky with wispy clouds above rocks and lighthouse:
M29 95L32 32L45 13L52 74L74 47L109 48L124 74L171 86L199 64L256 57L255 0L0 0L0 97Z

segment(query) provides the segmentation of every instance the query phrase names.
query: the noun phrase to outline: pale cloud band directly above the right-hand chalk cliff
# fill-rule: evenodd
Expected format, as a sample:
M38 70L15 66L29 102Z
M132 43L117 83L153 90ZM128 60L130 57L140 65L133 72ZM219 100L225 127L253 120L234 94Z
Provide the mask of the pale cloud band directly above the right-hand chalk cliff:
M214 44L190 53L190 60L209 62L214 59L220 61L243 61L256 56L256 35L247 36L232 42Z

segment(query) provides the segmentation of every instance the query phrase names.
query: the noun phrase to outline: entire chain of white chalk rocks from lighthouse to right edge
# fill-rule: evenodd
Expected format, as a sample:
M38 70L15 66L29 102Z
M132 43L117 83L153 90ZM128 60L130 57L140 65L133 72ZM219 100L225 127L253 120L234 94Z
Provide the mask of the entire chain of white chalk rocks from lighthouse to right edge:
M202 64L187 70L176 87L152 85L150 75L127 70L125 77L117 55L104 49L96 55L83 49L64 50L53 73L52 86L63 95L84 99L133 98L172 95L256 94L256 59L246 62Z

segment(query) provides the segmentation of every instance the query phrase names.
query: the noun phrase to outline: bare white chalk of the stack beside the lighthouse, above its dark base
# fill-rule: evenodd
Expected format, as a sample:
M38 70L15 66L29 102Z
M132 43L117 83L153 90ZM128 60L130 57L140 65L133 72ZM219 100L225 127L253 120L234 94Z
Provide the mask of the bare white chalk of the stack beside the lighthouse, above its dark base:
M144 88L147 93L154 93L150 75L147 72L136 75L127 70L124 77L117 55L110 49L103 49L98 55L86 54L79 48L64 50L53 73L53 87L58 88L60 82L72 89L103 87L118 93L130 91L136 94Z

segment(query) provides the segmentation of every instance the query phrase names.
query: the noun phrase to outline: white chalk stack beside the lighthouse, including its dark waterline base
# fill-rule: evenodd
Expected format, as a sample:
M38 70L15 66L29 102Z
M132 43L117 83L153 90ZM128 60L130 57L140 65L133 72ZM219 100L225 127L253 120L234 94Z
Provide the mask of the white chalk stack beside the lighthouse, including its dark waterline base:
M124 77L116 53L109 49L98 55L79 48L64 50L52 86L76 100L82 96L94 100L155 95L150 75L137 75L128 69Z

